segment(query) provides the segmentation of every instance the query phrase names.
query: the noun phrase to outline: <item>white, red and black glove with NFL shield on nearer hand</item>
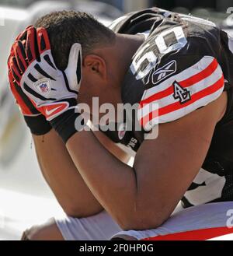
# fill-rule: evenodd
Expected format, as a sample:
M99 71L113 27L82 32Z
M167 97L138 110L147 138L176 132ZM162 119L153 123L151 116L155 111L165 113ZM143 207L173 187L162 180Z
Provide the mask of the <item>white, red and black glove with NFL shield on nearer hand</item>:
M47 121L75 108L81 82L80 44L72 45L68 66L61 71L54 63L47 31L30 26L16 38L11 55L12 76Z

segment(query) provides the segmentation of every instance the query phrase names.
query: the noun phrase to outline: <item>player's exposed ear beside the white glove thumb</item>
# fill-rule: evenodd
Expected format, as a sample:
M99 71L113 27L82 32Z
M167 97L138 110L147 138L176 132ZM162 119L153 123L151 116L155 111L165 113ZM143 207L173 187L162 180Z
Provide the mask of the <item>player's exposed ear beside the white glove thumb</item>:
M83 68L89 74L99 75L102 79L106 79L106 61L96 54L88 54L83 60Z

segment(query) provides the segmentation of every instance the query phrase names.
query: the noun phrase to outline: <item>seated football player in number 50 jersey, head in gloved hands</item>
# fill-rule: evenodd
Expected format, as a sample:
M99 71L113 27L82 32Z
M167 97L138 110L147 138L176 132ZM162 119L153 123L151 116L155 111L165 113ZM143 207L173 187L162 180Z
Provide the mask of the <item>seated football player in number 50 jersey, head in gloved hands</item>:
M151 230L127 233L137 239L211 228L231 233L230 40L210 21L156 8L110 28L83 12L53 12L19 34L9 83L44 177L68 213L23 239L107 239L120 230ZM126 113L115 129L98 124L102 131L89 131L76 106L92 109L94 97L115 109L136 104L136 114ZM133 167L120 144L136 153ZM189 211L165 222L180 200ZM168 222L167 233L159 233Z

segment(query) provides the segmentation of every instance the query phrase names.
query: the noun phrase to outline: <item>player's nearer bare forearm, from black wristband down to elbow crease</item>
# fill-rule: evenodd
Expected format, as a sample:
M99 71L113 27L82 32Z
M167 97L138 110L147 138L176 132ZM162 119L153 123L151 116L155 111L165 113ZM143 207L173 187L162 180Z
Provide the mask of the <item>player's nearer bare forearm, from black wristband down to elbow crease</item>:
M77 132L67 148L85 183L117 223L123 229L130 223L137 226L140 209L134 169L109 153L92 132Z

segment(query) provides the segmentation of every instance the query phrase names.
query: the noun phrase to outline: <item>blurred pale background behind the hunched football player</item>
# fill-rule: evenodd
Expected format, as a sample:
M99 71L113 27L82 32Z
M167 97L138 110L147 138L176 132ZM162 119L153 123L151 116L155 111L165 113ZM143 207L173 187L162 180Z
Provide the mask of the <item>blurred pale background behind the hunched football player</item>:
M191 13L225 29L233 20L233 0L0 0L0 240L17 240L26 227L63 215L43 181L30 132L9 93L6 61L13 39L38 17L55 10L90 12L107 26L123 13L151 6Z

